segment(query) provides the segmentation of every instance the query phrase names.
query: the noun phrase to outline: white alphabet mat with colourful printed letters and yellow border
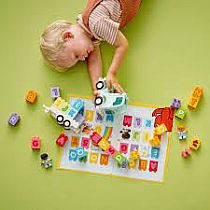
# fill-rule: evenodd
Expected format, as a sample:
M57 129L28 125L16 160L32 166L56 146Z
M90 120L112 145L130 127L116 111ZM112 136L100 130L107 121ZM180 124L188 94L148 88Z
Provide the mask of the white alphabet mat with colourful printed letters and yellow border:
M70 100L75 100L71 97ZM159 146L152 146L150 139L153 129L165 123L171 131L173 110L129 105L126 113L118 116L101 116L96 112L91 100L83 99L85 117L91 122L94 131L103 141L100 147L93 144L89 132L75 134L66 131L69 141L63 147L60 169L84 171L103 175L120 176L133 179L162 182L168 158L170 132L161 136ZM77 158L77 148L82 147L87 153L85 160ZM131 153L138 151L140 157L131 159ZM119 154L127 158L127 167L119 167L114 158Z

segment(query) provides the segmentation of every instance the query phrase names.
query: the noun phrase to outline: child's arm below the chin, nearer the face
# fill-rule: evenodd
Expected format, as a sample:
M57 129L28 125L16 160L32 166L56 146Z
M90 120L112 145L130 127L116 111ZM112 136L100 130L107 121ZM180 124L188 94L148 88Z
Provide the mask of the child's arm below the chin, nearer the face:
M93 94L97 95L96 83L99 77L102 76L102 61L99 45L96 45L93 52L91 52L91 54L88 56L87 64L88 72L92 83Z

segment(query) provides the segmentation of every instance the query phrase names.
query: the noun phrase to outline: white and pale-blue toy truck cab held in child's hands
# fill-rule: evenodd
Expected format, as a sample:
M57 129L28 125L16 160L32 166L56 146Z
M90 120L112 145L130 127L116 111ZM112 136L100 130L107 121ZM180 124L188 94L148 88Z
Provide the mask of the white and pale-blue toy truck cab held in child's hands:
M106 85L106 79L99 78L96 83L98 95L95 98L95 107L97 110L106 111L112 110L114 113L125 112L128 104L128 97L126 93L119 94L110 92Z

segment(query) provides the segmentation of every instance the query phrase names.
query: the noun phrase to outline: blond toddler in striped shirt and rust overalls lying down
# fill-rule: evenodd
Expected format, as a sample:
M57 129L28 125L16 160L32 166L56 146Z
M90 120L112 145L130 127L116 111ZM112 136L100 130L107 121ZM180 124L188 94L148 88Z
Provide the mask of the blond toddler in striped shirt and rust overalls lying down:
M78 61L87 61L94 95L102 76L100 42L115 47L106 82L108 89L124 92L116 79L117 71L128 50L128 41L119 30L137 14L141 0L88 0L76 24L58 20L49 25L40 40L43 57L58 71L65 71Z

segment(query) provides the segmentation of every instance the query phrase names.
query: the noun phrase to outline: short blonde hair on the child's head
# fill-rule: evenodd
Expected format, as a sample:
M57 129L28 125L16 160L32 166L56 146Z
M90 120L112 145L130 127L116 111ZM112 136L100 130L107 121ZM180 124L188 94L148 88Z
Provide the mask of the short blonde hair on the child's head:
M44 59L58 71L65 71L58 65L58 55L65 48L63 33L71 27L72 23L66 20L57 20L50 24L42 33L40 50Z

